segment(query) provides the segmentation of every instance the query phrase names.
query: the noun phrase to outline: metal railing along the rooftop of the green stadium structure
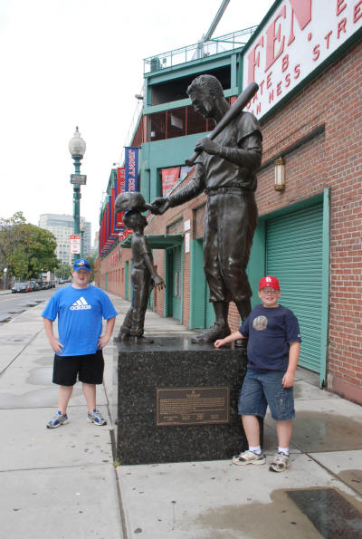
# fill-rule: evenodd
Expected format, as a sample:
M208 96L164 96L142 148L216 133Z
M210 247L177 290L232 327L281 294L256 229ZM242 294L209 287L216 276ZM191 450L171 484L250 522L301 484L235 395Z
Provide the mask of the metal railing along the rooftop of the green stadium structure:
M258 26L250 26L231 34L221 35L206 42L193 43L180 49L174 49L167 53L149 56L143 60L143 72L157 72L179 63L191 62L192 60L207 58L213 54L224 53L239 47L243 47L249 41Z

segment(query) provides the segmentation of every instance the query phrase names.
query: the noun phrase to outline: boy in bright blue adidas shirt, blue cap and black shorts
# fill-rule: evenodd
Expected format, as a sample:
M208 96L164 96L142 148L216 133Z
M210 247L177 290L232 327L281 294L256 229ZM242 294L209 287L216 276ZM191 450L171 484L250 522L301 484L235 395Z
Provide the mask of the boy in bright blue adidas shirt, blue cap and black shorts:
M55 351L52 381L60 386L58 411L46 424L48 428L61 427L68 421L66 411L77 376L87 401L88 421L107 423L96 406L96 385L103 381L102 348L110 341L117 311L107 294L90 286L88 260L75 260L71 275L73 283L53 294L42 313L46 335ZM57 316L59 338L52 329ZM107 320L104 335L102 318Z

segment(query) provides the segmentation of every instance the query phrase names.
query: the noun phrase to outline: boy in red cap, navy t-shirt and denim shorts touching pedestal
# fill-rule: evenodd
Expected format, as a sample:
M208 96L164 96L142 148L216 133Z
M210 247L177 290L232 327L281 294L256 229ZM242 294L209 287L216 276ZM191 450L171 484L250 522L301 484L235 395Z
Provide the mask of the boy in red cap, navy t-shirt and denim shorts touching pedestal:
M278 452L269 469L282 472L290 467L289 444L295 417L293 384L300 355L300 328L291 310L278 303L281 287L276 277L263 277L258 295L262 304L252 309L237 332L214 342L214 346L219 348L228 342L248 339L248 368L239 414L249 449L233 457L233 464L265 464L258 417L265 416L269 405L278 435Z

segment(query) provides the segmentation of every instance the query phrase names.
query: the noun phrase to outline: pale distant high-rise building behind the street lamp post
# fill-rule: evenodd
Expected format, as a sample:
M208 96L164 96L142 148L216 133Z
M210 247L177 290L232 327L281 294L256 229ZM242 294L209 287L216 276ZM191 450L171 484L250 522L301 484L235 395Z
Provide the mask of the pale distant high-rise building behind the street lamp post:
M85 226L83 236L83 255L91 253L90 235L91 224L81 217L81 226ZM56 255L62 264L71 264L70 240L69 236L74 233L74 218L65 214L43 214L39 217L39 226L52 232L56 237Z

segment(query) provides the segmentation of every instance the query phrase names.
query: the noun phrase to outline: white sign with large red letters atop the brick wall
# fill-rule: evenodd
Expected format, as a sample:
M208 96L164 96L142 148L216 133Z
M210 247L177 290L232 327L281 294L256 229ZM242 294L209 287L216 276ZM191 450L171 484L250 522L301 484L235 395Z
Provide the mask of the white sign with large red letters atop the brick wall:
M283 0L243 53L247 110L262 118L362 27L362 0Z

